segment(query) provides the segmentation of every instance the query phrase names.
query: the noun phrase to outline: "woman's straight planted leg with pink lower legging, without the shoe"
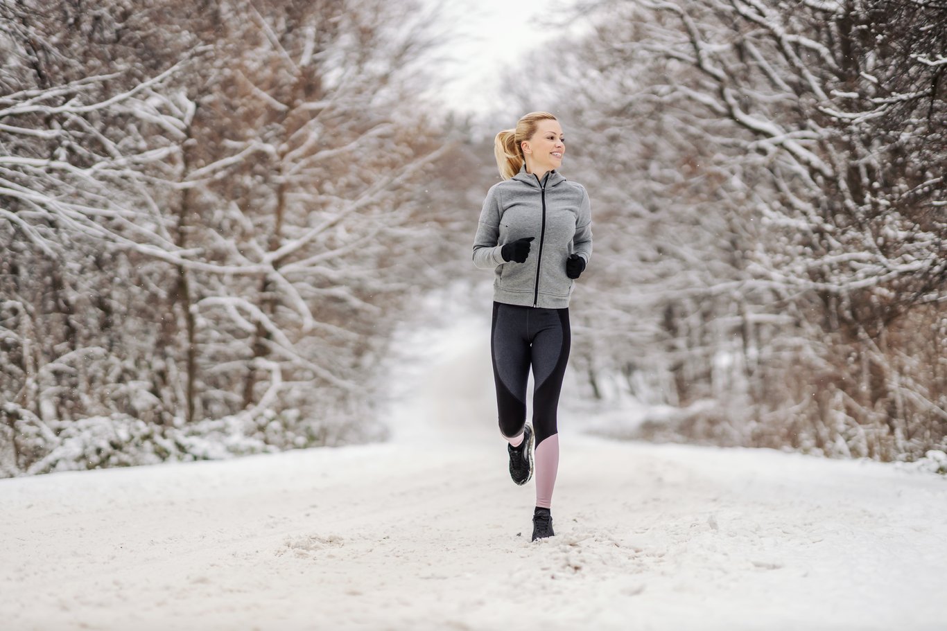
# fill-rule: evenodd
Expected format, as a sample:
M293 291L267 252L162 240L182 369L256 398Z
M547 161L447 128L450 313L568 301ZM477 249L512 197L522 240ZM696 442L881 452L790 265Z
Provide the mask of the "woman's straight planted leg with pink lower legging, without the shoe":
M528 331L532 342L533 429L536 432L536 505L549 508L559 470L557 412L569 361L572 334L569 310L533 309Z

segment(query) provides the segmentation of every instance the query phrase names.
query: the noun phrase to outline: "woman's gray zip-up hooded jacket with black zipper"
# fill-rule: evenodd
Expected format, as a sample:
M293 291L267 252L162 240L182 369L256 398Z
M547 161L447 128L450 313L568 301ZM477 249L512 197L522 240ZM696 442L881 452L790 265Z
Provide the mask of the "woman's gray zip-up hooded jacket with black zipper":
M535 237L526 262L504 261L503 246L524 237ZM573 281L565 275L565 259L573 253L586 265L592 256L592 207L584 186L555 170L540 181L526 167L493 184L474 237L474 265L494 269L494 301L568 307Z

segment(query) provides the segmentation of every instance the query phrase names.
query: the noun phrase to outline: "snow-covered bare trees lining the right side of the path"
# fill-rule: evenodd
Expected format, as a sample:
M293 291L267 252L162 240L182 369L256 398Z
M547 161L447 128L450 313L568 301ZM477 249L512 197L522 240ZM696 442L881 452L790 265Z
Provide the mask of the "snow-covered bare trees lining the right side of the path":
M598 200L599 307L577 344L592 382L716 401L686 416L696 437L880 458L941 445L947 9L598 9L539 79Z

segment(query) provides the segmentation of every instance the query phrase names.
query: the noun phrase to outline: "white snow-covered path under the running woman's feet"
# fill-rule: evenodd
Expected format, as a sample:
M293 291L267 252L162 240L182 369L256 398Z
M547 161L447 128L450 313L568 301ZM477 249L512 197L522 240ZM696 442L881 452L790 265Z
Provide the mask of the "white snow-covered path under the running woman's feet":
M530 543L479 342L391 444L0 481L0 628L947 628L947 481L890 465L563 422Z

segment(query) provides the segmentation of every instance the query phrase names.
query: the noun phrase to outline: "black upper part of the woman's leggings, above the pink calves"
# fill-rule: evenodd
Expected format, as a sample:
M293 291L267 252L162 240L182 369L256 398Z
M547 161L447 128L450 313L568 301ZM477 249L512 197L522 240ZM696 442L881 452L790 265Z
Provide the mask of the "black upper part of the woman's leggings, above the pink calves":
M514 438L527 420L527 379L533 371L533 431L538 447L558 432L556 411L569 361L569 309L493 303L491 353L500 431Z

